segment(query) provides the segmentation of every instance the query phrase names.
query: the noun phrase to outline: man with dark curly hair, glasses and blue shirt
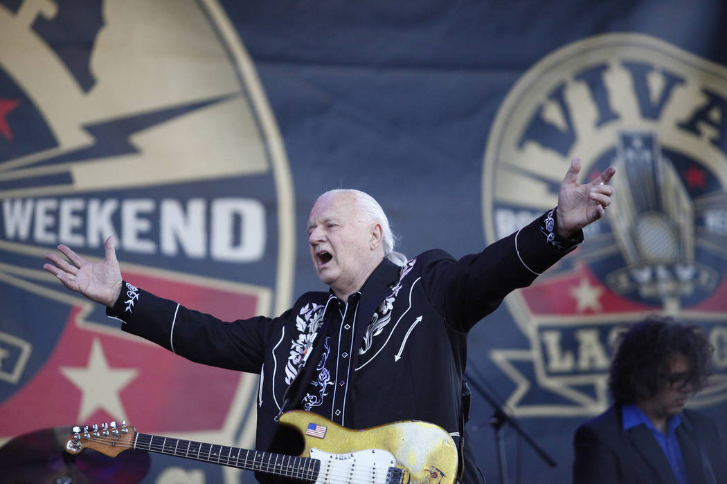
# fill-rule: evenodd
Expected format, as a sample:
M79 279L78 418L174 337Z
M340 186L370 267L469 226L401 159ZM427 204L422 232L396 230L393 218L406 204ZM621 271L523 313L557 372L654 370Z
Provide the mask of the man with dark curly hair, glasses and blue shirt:
M702 329L650 317L622 334L608 386L614 406L578 428L574 484L727 483L714 422L683 409L707 385Z

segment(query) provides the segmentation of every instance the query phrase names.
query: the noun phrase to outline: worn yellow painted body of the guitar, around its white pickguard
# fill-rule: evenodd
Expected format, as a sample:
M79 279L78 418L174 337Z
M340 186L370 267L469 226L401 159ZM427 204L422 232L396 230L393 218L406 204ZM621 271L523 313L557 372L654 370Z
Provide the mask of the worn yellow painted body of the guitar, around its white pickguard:
M282 414L280 423L293 427L303 437L301 456L315 456L316 449L328 454L350 454L379 449L393 455L403 469L403 484L454 484L457 479L457 447L446 430L435 424L407 420L364 430L350 430L318 414L294 410ZM315 424L318 435L310 435Z

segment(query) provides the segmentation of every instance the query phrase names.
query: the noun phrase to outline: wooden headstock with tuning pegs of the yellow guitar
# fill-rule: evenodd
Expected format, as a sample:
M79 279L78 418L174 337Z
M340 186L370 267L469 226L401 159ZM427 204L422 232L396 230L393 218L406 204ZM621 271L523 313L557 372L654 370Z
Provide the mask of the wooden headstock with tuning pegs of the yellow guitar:
M97 424L90 428L88 425L83 428L73 427L73 434L65 440L65 451L78 454L84 448L92 448L101 454L116 457L134 446L136 433L134 427L126 427L124 420L120 427L116 422L104 422L101 427Z

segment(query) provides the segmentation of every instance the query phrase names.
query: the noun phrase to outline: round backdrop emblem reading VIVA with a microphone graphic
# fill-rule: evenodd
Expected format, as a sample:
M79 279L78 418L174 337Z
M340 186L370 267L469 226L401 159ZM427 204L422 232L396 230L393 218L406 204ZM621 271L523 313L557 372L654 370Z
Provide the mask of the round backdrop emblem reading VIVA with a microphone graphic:
M494 350L520 415L608 404L617 332L650 313L700 324L727 397L727 69L655 38L610 34L563 47L507 94L483 170L487 242L553 208L572 157L583 181L615 165L607 216L506 302L530 348ZM537 391L534 391L537 390Z

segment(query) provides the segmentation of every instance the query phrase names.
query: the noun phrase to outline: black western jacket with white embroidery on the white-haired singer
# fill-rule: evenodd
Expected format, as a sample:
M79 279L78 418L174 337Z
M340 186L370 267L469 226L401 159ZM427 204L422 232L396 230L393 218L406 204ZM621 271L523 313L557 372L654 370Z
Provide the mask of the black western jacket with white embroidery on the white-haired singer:
M362 349L353 355L356 370L349 383L353 398L346 427L419 419L440 425L459 440L467 332L507 293L531 284L568 252L546 242L544 220L459 261L430 250L403 267L387 260L379 265L361 288L355 337ZM143 290L137 290L127 310L124 300L129 298L123 296L109 314L124 321L124 331L198 363L260 373L256 446L290 454L288 430L274 418L306 338L327 315L329 292L306 292L276 318L231 323ZM317 360L320 347L314 346L309 361ZM313 366L297 381L310 382ZM292 392L294 403L305 392L306 385L299 386ZM481 481L472 449L465 446L461 482Z

